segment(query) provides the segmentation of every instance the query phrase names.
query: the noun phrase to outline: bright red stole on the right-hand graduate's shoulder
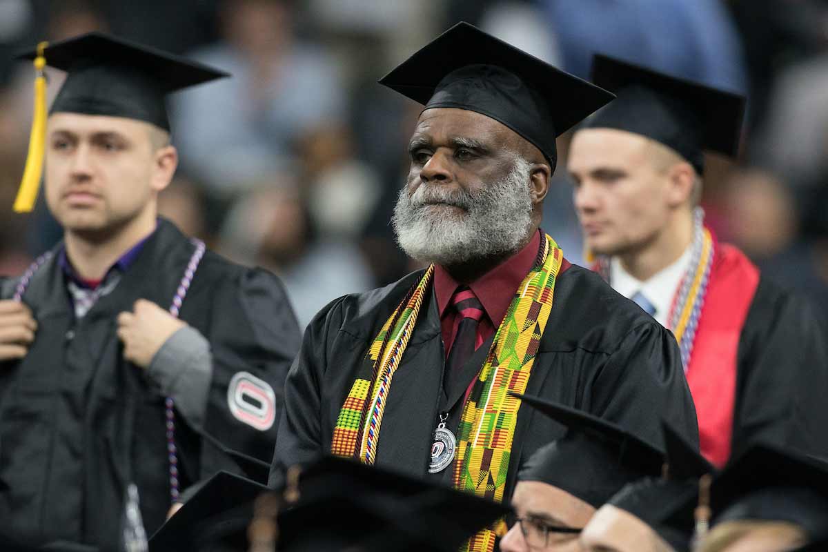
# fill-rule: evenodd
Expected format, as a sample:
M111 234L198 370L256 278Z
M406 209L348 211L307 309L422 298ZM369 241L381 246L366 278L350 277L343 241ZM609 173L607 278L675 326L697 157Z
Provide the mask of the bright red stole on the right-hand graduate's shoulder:
M730 456L739 337L758 283L758 268L743 252L715 244L686 377L696 403L701 454L719 468Z

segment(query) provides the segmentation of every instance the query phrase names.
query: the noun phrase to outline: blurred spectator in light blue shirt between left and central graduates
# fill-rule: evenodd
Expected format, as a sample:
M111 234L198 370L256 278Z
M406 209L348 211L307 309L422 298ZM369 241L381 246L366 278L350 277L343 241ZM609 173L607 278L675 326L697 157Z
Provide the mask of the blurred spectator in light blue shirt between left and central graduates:
M209 195L234 198L290 160L297 140L343 113L337 65L297 41L288 0L224 0L224 41L191 56L233 74L177 94L173 141ZM205 87L207 88L207 87Z

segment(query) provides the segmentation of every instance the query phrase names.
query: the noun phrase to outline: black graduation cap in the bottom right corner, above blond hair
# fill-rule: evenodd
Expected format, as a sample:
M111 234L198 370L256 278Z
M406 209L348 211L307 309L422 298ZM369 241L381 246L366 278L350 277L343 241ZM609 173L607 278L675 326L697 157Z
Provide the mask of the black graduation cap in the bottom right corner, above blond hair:
M714 526L723 521L791 521L811 540L828 539L828 463L754 444L714 479Z

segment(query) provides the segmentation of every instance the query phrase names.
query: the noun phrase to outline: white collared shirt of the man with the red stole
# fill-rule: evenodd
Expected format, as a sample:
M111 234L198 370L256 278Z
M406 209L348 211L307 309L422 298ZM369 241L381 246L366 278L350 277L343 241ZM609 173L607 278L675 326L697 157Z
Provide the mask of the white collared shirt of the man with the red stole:
M632 276L623 269L618 257L612 257L609 273L613 289L628 299L640 291L656 308L653 318L662 326L667 327L667 316L670 315L673 296L676 295L678 286L681 286L681 278L690 266L691 249L692 247L687 247L672 265L657 272L647 281L640 281Z

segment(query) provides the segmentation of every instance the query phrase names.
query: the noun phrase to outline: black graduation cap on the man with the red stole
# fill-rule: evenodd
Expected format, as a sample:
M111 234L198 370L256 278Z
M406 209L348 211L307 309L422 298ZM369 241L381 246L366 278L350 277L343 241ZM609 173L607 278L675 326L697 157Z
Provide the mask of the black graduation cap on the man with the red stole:
M696 171L704 151L725 156L739 151L744 97L596 54L595 84L618 98L584 122L583 128L615 128L652 138L679 153Z

